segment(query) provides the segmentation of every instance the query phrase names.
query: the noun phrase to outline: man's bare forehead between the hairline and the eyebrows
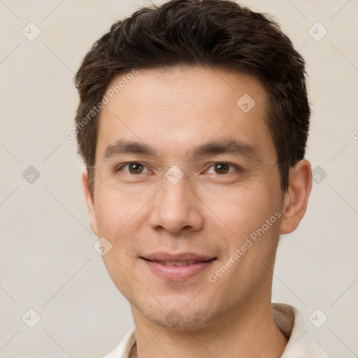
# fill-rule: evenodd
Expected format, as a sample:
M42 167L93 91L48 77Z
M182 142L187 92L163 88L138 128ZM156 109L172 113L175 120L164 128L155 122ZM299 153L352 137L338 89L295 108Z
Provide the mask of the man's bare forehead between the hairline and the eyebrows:
M250 75L201 67L140 70L114 78L106 96L96 160L122 139L148 145L163 159L180 159L209 141L236 139L255 148L263 162L275 160L267 94Z

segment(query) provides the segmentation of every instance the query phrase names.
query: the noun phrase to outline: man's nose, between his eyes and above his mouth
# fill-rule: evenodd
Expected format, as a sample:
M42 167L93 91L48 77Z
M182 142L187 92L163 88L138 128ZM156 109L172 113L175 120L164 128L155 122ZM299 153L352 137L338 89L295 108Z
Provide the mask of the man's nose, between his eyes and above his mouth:
M180 230L200 230L203 226L201 201L196 197L188 178L177 170L166 172L162 189L152 199L150 226L153 229L166 229L171 233Z

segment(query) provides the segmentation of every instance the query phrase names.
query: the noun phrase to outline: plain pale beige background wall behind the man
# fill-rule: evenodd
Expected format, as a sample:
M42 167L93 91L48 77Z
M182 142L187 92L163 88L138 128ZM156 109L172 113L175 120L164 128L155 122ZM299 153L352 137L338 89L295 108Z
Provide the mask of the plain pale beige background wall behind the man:
M299 229L282 237L273 297L299 308L331 357L357 357L358 2L243 3L277 17L307 60L313 109L307 158L327 173L313 185ZM141 4L0 1L1 358L101 357L133 324L129 304L92 248L82 164L75 140L64 134L73 127L80 60ZM22 34L23 28L36 34L29 22L41 29L34 41ZM328 31L320 41L309 33L316 22ZM310 32L320 37L323 27ZM22 176L29 166L41 175L32 183ZM41 316L32 329L30 308ZM309 320L316 308L318 321L328 317L320 328Z

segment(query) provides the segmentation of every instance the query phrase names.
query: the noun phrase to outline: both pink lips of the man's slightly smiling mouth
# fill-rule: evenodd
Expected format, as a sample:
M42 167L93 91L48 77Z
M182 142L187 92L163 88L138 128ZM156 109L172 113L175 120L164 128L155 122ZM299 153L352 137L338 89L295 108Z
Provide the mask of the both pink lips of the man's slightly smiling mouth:
M206 255L198 255L193 252L185 252L182 254L169 254L167 252L157 252L155 254L140 257L143 262L148 265L150 271L159 275L165 280L181 281L194 277L205 271L216 259ZM159 262L158 262L159 261ZM194 264L186 266L166 266L165 262L183 262L197 261Z

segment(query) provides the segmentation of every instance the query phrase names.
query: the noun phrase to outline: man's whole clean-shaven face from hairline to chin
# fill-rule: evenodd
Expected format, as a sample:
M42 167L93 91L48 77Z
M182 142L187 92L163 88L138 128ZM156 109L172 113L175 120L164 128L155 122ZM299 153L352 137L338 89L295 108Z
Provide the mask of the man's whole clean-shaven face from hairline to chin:
M103 108L85 193L137 316L199 328L271 299L282 191L266 108L252 76L179 67L138 71Z

